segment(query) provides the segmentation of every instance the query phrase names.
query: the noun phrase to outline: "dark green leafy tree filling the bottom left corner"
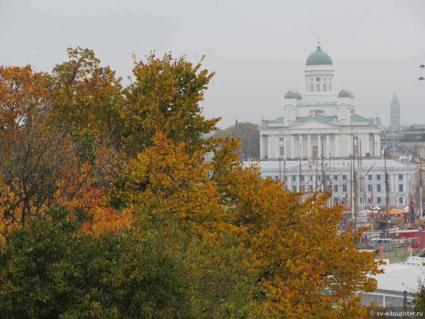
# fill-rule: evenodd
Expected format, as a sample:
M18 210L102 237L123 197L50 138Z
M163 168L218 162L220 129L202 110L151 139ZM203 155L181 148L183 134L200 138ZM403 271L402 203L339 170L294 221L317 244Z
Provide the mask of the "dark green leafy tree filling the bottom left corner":
M197 318L181 265L161 242L84 234L56 208L10 234L0 255L4 318Z

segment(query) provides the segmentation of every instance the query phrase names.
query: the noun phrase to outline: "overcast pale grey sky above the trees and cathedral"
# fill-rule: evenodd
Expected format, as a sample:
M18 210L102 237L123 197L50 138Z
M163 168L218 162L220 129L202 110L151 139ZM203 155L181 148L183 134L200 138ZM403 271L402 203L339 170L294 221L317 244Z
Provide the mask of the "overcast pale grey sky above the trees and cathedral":
M50 71L67 47L88 47L104 65L131 75L155 49L171 51L216 75L205 94L206 117L218 127L258 123L282 113L289 85L304 93L304 65L322 50L334 85L350 85L356 113L389 125L397 93L402 124L425 123L424 0L0 0L0 64Z

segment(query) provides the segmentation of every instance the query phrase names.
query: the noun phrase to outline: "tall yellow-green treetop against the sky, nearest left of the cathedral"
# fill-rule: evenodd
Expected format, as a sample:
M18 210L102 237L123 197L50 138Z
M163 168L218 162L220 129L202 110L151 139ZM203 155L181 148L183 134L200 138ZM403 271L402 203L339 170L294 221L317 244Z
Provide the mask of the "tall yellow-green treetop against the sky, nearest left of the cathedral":
M162 59L151 53L146 62L133 59L135 79L124 89L121 109L124 141L130 153L152 145L158 131L175 144L185 142L189 149L202 148L202 135L214 130L220 120L205 119L199 106L214 72L201 70L203 58L196 65L184 56L173 59L171 53Z

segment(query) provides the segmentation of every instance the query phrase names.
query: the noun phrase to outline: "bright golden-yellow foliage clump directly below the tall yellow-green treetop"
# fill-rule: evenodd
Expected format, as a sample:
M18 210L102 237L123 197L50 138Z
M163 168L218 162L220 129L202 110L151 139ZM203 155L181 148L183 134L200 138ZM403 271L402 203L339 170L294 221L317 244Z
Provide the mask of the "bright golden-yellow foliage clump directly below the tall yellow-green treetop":
M209 166L201 165L201 151L189 155L185 143L174 145L162 132L155 134L153 143L126 167L130 186L137 190L138 184L147 183L133 198L141 210L150 207L153 213L177 215L185 227L208 222L224 210L217 203L215 183L207 180Z

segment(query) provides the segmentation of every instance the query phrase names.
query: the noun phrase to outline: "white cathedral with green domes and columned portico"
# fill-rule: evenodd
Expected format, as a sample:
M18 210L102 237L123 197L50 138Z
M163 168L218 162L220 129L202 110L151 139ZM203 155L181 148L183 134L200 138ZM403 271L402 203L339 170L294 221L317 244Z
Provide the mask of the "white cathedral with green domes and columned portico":
M262 160L381 156L381 120L356 114L349 89L335 93L334 72L318 40L317 50L305 63L305 94L289 88L283 116L263 119L258 126Z

